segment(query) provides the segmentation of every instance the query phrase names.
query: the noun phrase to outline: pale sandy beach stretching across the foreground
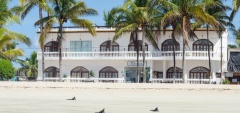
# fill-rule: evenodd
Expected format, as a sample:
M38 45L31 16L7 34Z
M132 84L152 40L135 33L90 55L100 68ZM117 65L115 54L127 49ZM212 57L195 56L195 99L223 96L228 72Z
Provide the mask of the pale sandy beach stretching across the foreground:
M0 113L239 113L239 95L238 85L0 82Z

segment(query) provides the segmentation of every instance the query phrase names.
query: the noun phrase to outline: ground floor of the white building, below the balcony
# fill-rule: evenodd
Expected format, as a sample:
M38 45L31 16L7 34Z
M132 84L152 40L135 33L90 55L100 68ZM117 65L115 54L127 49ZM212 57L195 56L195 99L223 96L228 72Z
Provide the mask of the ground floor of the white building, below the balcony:
M41 61L40 61L41 62ZM41 67L41 63L38 65ZM59 79L58 61L45 61L44 80ZM219 83L222 80L220 62L212 61L211 76L208 61L186 60L184 71L182 61L176 61L174 75L173 61L145 62L147 82L154 83ZM136 60L64 60L62 67L63 79L73 82L126 82L137 83L143 81L143 62L139 61L137 68ZM42 80L42 71L39 70L38 80Z

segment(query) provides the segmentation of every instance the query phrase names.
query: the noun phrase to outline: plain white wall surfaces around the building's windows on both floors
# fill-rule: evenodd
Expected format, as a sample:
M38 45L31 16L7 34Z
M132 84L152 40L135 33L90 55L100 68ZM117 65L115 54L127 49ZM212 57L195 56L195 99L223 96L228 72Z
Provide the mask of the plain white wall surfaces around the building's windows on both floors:
M92 51L100 51L100 45L107 41L111 40L112 37L114 36L114 30L100 30L97 32L96 36L92 36L88 32L83 32L83 31L69 31L67 33L64 33L64 40L63 40L63 51L69 51L70 48L70 41L92 41ZM170 39L171 31L167 31L165 35L163 33L158 37L158 45L161 50L161 44L167 39ZM206 39L206 31L196 31L196 34L199 39ZM116 42L119 44L119 51L128 51L128 44L129 44L129 36L130 33L125 33L123 34L119 39L116 40ZM141 40L141 34L139 34L139 40ZM54 33L49 33L48 38L45 41L45 44L50 42L50 41L56 41L57 37L57 32ZM222 35L222 42L223 42L223 64L226 64L227 61L227 37L228 33L227 31L224 32ZM215 33L215 31L209 31L209 39L210 41L214 44L214 52L219 52L221 51L221 40L218 38L218 35ZM177 38L177 41L180 44L180 51L182 50L182 38L179 37ZM196 41L196 40L195 40ZM148 50L149 51L155 51L151 44L148 43ZM193 40L189 41L189 48L187 48L186 51L191 51L192 50L192 44L194 43ZM141 60L141 59L140 59ZM77 66L83 66L87 68L89 71L92 70L95 74L95 77L99 76L99 71L106 67L106 66L112 66L115 69L118 70L118 76L121 78L123 77L122 75L125 74L124 67L127 67L127 61L128 60L63 60L63 75L70 75L70 71L77 67ZM165 71L167 71L168 68L173 66L173 61L172 60L150 60L147 61L147 67L151 68L151 71L160 71L163 72L163 64L165 62ZM45 59L45 69L50 67L50 66L55 66L59 67L58 65L58 59L55 60L47 60ZM182 67L182 61L181 59L176 61L176 66L181 68ZM197 66L203 66L208 68L208 60L186 60L185 61L185 73L189 73L189 71ZM39 60L38 63L38 73L39 73L39 79L41 79L42 75L42 63L41 59ZM212 71L213 72L219 72L220 71L220 60L212 61Z

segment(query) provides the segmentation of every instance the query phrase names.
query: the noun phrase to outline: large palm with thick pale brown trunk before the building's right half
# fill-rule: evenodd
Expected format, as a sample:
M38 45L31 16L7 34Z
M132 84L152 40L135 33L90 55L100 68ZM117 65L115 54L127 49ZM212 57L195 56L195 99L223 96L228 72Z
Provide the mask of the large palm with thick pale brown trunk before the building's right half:
M209 0L212 2L212 0ZM168 12L161 20L163 29L171 25L173 32L181 34L183 37L183 60L182 70L185 72L185 45L188 46L190 38L195 38L196 34L194 30L199 24L192 24L192 22L203 22L212 25L217 28L219 23L209 14L205 13L203 5L204 2L196 0L153 0L151 7L164 7L168 9ZM172 25L178 23L179 25ZM184 80L185 81L185 80Z

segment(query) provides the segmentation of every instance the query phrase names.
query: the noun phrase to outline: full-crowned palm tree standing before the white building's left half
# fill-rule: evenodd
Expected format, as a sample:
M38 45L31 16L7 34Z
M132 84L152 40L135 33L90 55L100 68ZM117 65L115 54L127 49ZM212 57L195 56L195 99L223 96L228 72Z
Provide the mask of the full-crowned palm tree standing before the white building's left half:
M70 21L78 27L86 27L92 35L96 35L92 22L86 19L79 19L79 16L97 15L97 11L87 8L84 2L76 2L75 0L55 0L52 5L52 14L38 20L35 25L45 23L43 36L46 35L55 24L59 25L57 41L59 52L59 73L60 81L62 81L63 25L67 21Z

